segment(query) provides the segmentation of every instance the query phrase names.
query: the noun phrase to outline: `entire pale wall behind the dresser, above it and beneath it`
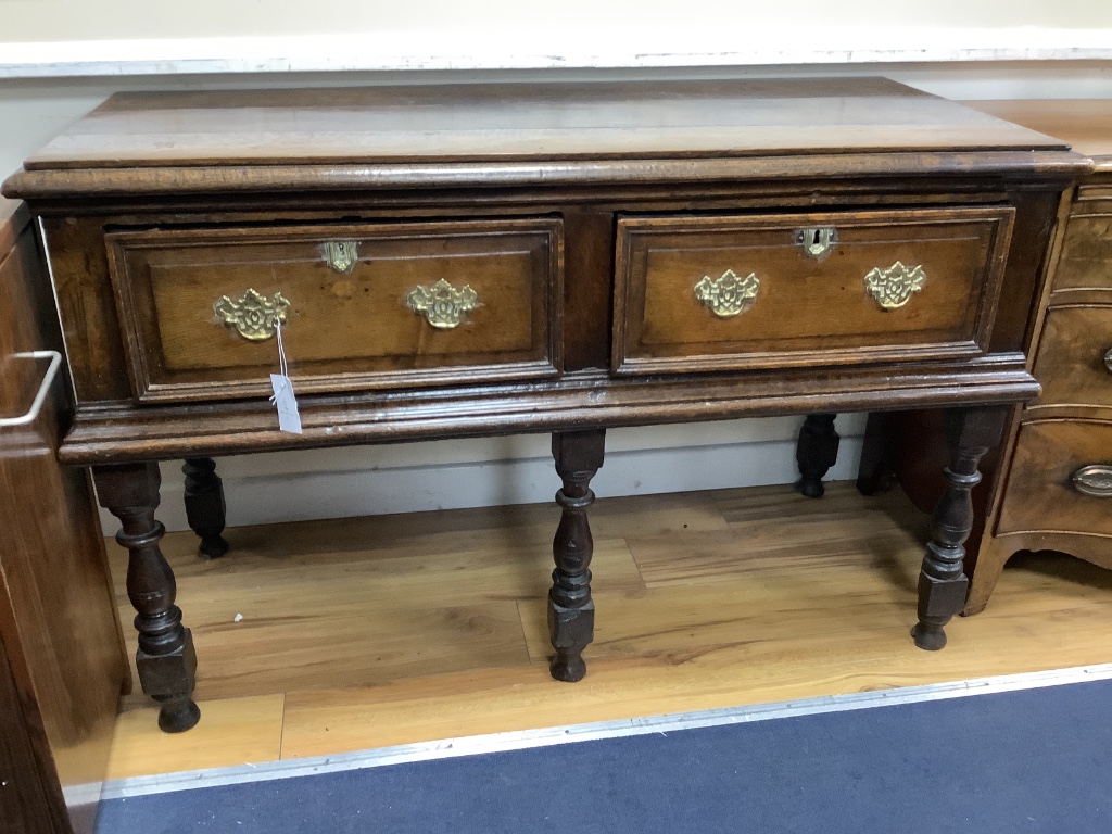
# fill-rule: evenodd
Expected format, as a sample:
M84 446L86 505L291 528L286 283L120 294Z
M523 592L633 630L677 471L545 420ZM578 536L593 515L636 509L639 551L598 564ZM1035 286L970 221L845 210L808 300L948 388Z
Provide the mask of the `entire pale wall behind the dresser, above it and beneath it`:
M592 29L568 28L580 16ZM832 6L818 0L790 7L712 0L318 0L308 7L288 0L0 0L0 175L122 89L868 72L957 99L1112 98L1112 3L853 0L838 3L832 20ZM873 51L854 53L847 47L854 43ZM925 43L949 60L912 60L925 54ZM506 44L517 51L507 52ZM296 56L284 58L282 49ZM885 54L890 62L876 62ZM1093 59L952 60L1026 54ZM793 62L777 62L785 57ZM770 62L776 66L756 66ZM270 71L242 72L252 67ZM282 71L291 67L346 71ZM383 67L393 69L351 71ZM399 69L406 67L434 69ZM205 68L226 71L196 72ZM788 483L796 477L800 423L614 430L595 488L605 496ZM863 426L861 415L840 418L844 439L833 477L853 477ZM547 502L558 486L544 436L245 456L221 461L220 470L234 525ZM163 478L160 516L171 529L181 528L177 466L167 465Z

